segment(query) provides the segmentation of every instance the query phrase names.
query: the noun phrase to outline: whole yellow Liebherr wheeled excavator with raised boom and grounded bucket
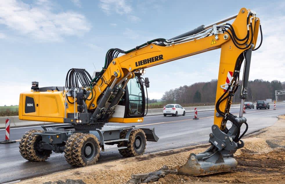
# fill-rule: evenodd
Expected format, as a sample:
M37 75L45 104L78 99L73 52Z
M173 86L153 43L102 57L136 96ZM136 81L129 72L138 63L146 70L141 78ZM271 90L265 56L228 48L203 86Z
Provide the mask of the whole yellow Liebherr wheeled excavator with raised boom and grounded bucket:
M19 119L57 124L26 132L20 153L28 161L45 161L52 151L64 152L66 161L75 167L95 164L108 145L117 145L124 157L143 154L146 141L158 141L154 128L122 124L144 120L149 87L149 79L143 78L146 69L221 49L211 146L190 154L179 173L199 176L232 170L237 165L234 153L244 146L241 138L248 130L242 107L251 55L261 43L259 18L254 11L241 8L238 14L174 38L154 39L128 51L109 49L103 69L94 78L85 69L72 68L64 87L39 87L38 82L32 82L32 90L20 94ZM238 87L241 108L236 116L230 113L230 106ZM227 122L232 126L226 126ZM243 124L246 129L241 132Z

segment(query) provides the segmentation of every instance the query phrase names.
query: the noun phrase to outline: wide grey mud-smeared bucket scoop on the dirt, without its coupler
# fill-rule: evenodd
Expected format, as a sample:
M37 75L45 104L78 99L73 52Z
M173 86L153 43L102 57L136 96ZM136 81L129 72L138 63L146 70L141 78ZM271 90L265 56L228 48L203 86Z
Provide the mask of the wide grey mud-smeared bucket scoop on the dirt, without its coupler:
M222 158L219 152L212 155L210 158L207 154L191 153L187 162L179 170L178 174L187 176L202 176L218 172L230 171L237 166L237 161L233 157Z

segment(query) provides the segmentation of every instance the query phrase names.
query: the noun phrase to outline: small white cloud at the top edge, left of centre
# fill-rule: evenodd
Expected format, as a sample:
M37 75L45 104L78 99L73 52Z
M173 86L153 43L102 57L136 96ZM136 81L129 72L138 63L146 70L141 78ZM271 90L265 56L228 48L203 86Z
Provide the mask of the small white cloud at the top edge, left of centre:
M99 7L107 14L115 11L122 15L132 11L131 6L125 0L100 0Z

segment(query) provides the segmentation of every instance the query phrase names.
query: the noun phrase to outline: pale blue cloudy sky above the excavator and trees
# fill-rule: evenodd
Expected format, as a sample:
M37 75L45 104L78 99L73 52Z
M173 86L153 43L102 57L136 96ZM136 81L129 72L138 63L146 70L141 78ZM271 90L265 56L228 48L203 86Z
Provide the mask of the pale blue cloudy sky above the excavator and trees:
M129 50L154 38L172 38L243 7L257 12L264 36L252 53L249 79L285 81L283 1L0 1L0 106L18 104L32 81L64 86L70 68L91 74L102 69L110 48ZM219 57L217 49L146 69L149 97L217 79Z

